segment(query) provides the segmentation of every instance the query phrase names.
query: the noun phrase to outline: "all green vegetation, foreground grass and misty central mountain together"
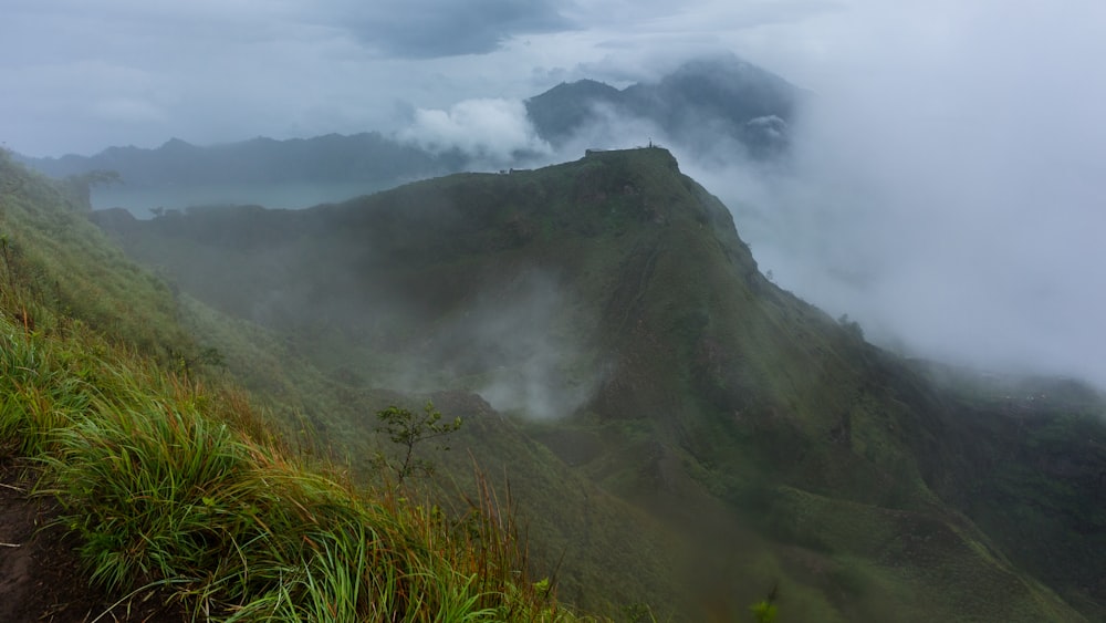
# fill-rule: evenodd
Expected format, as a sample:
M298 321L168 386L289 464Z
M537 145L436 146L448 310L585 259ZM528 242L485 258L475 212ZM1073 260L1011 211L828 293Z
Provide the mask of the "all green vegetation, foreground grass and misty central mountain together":
M168 287L10 175L4 347L35 372L13 373L4 434L43 491L82 500L70 525L124 593L301 619L376 599L781 623L1106 603L1100 398L1008 403L870 346L764 279L664 149L303 211L93 215ZM422 443L447 433L450 453Z

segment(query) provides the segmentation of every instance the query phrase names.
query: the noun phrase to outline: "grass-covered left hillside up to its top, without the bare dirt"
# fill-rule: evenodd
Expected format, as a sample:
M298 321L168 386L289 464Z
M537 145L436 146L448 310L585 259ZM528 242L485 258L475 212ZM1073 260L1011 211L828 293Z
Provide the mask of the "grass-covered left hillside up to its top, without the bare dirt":
M4 153L0 190L0 451L41 466L98 585L216 620L574 619L487 489L453 518L292 451L84 206Z

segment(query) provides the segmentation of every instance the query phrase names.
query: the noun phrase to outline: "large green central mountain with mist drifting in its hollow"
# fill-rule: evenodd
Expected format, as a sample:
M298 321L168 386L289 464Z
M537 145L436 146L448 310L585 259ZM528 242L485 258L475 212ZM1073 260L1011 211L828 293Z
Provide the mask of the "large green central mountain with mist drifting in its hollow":
M1100 395L866 343L766 280L665 149L306 210L94 218L356 474L373 470L365 413L397 393L476 423L461 446L509 475L570 601L688 620L769 593L801 621L1106 613ZM314 372L281 372L298 367ZM467 457L440 460L462 478Z

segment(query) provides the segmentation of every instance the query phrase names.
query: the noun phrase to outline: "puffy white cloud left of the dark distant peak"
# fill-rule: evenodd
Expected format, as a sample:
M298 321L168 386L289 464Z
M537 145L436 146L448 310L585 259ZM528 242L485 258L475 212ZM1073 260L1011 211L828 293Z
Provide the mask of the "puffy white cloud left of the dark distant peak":
M522 153L550 150L517 100L466 100L445 111L419 108L399 137L436 153L459 149L493 165L511 163Z

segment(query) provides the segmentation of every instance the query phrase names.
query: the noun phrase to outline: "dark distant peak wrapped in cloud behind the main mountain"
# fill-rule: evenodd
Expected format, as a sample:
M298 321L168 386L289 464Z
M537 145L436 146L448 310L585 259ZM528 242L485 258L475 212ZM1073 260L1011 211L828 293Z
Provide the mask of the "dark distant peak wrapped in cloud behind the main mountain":
M623 90L592 80L562 83L526 101L542 138L553 145L586 136L594 125L651 123L700 154L743 147L759 158L784 153L789 124L810 94L733 55L697 59L656 82Z

